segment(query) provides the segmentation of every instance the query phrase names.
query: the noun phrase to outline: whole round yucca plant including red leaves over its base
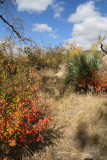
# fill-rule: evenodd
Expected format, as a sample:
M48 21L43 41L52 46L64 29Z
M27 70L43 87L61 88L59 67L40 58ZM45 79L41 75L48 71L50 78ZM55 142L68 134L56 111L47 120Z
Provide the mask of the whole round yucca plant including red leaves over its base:
M74 55L67 65L68 74L66 83L74 86L75 91L85 91L89 85L96 87L100 76L98 72L102 67L102 60L96 53L81 53Z

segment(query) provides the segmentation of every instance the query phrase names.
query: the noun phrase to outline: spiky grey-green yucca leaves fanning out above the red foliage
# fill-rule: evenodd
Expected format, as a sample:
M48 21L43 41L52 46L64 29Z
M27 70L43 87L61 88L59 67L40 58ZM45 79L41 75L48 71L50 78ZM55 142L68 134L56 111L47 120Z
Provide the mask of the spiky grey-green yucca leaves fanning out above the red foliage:
M92 77L90 69L97 72L102 67L101 57L96 53L82 53L74 55L68 62L68 74L66 77L66 83L71 85L78 85L78 78L86 75L85 78Z

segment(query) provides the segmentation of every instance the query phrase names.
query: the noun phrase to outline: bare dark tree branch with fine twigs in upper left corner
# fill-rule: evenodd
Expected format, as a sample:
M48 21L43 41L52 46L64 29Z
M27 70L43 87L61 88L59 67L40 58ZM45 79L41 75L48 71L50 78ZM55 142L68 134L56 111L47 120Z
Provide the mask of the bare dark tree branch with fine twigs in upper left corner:
M22 41L31 41L31 39L24 37L24 26L22 20L13 16L15 4L16 0L0 0L0 19L6 24L8 29L11 31L11 34L15 33Z

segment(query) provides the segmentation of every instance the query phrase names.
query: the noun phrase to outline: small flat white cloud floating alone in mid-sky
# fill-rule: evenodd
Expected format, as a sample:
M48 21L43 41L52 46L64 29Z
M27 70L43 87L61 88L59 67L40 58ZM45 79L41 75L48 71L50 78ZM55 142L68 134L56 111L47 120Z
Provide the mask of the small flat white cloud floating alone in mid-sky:
M35 23L33 24L33 32L47 32L48 36L52 38L58 38L58 35L56 34L56 31L53 31L52 27L49 27L47 24L39 24Z

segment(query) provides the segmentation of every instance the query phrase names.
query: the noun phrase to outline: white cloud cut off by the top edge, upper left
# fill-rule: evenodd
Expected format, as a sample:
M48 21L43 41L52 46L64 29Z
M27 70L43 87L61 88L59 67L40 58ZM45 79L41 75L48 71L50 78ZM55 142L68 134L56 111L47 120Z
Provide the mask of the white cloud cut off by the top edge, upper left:
M45 11L53 0L16 0L18 11L42 12Z

